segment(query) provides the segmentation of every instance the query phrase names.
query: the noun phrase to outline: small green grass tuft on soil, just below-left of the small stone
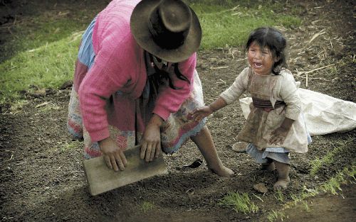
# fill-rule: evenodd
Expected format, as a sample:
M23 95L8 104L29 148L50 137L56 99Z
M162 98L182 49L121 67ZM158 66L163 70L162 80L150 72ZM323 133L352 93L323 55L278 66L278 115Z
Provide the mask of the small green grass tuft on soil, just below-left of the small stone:
M256 213L258 206L251 201L247 193L231 192L219 202L221 206L232 206L236 212Z

